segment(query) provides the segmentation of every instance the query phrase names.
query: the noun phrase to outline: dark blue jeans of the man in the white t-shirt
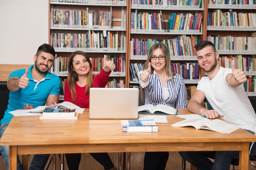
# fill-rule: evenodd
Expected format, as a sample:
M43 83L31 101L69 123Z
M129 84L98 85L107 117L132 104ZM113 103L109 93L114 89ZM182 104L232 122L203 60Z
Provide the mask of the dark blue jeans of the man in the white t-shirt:
M252 145L250 142L249 147ZM239 158L239 151L190 151L179 152L183 159L189 161L200 170L229 170L232 159ZM251 156L256 155L256 144ZM209 158L214 159L212 162Z

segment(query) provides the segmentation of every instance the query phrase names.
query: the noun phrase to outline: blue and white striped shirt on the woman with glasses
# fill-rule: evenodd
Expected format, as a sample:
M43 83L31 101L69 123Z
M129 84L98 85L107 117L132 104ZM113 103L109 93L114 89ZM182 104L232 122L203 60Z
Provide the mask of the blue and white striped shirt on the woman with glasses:
M140 75L139 75L140 76ZM168 89L168 98L164 100L164 91L162 81L157 76L155 70L153 74L150 74L147 82L139 81L139 85L145 90L145 105L168 105L175 108L186 108L186 88L184 79L180 74L173 76L173 83L171 77L167 80L166 88ZM166 97L166 96L165 96Z

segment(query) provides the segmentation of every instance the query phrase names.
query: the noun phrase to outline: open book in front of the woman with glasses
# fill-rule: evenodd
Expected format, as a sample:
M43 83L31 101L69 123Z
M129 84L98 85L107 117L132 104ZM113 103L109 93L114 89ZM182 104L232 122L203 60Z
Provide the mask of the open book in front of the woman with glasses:
M168 114L177 115L177 110L167 105L142 105L138 107L138 113L149 113L149 114Z

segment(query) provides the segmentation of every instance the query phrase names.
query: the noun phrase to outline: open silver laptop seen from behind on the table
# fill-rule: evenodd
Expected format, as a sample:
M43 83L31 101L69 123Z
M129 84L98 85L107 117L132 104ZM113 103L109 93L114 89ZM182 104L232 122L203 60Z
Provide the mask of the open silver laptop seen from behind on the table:
M90 88L90 119L137 119L138 88Z

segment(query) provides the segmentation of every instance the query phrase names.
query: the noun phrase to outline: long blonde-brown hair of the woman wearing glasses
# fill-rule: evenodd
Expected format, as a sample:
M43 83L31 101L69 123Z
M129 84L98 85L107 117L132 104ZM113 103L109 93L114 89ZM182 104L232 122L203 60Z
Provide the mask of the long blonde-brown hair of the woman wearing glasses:
M162 50L162 52L164 53L164 56L165 56L165 59L166 59L165 71L166 71L166 74L171 77L171 81L172 81L173 87L174 87L173 76L175 76L175 73L173 73L172 70L171 70L171 58L170 58L168 47L165 44L156 43L156 44L154 44L153 46L150 47L150 49L148 51L147 60L144 63L144 67L145 67L144 70L146 70L148 68L148 63L150 62L151 56L152 56L153 52L158 48L160 50ZM151 73L150 74L152 74L153 71L154 71L154 68L151 65ZM143 102L145 102L145 91L143 90L143 88L141 86L139 87L139 89L140 89L141 100Z

